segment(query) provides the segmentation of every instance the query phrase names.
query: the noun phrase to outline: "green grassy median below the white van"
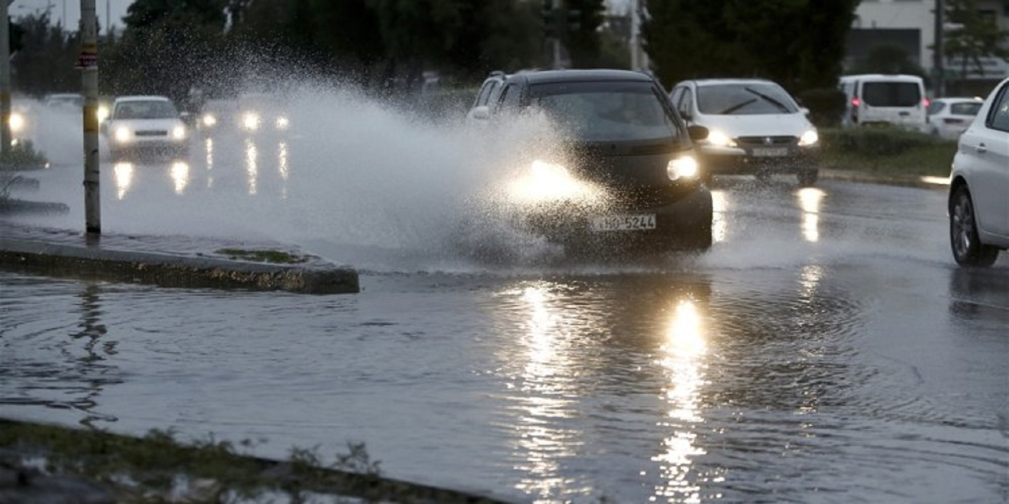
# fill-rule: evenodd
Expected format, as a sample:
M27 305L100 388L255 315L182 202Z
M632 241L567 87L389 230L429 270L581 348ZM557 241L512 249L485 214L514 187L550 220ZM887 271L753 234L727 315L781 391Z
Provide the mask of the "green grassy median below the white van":
M916 131L866 127L820 130L824 168L893 176L947 176L957 142Z

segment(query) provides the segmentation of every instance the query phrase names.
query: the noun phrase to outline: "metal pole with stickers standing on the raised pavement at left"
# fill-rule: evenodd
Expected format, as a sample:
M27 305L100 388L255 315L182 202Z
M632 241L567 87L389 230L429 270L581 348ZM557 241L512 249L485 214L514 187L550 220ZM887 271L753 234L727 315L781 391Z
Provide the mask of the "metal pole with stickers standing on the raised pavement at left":
M88 235L102 234L101 166L98 163L98 32L95 0L81 0L81 56L84 91L84 216Z

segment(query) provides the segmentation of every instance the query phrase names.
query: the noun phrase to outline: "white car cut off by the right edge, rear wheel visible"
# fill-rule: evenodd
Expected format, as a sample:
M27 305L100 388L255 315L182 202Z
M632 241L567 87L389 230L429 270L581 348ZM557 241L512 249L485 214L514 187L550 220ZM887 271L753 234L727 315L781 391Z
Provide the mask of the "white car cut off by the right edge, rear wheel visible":
M991 266L1009 248L1009 79L960 137L949 173L949 241L963 266Z

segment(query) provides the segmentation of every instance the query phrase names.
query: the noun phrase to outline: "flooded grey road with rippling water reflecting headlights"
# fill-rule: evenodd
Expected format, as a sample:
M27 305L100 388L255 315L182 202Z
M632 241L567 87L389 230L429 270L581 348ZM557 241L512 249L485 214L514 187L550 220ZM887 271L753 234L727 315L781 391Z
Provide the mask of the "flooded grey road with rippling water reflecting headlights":
M106 172L105 229L290 240L360 294L0 272L0 415L277 458L363 443L385 476L516 502L1009 499L1009 260L956 267L944 193L727 178L702 256L486 264L433 232L444 187L403 172L342 212L368 199L285 178L299 141L257 145L254 192L238 142L195 151L182 192L172 163L122 198ZM39 196L73 204L55 169Z

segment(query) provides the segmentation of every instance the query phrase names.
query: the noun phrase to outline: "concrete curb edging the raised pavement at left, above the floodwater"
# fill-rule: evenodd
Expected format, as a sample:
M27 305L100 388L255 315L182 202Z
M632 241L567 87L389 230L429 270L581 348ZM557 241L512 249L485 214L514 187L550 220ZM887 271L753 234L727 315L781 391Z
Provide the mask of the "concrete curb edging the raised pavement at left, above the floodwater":
M360 291L354 269L328 262L266 264L7 237L0 246L0 267L164 287L285 290L307 294Z

